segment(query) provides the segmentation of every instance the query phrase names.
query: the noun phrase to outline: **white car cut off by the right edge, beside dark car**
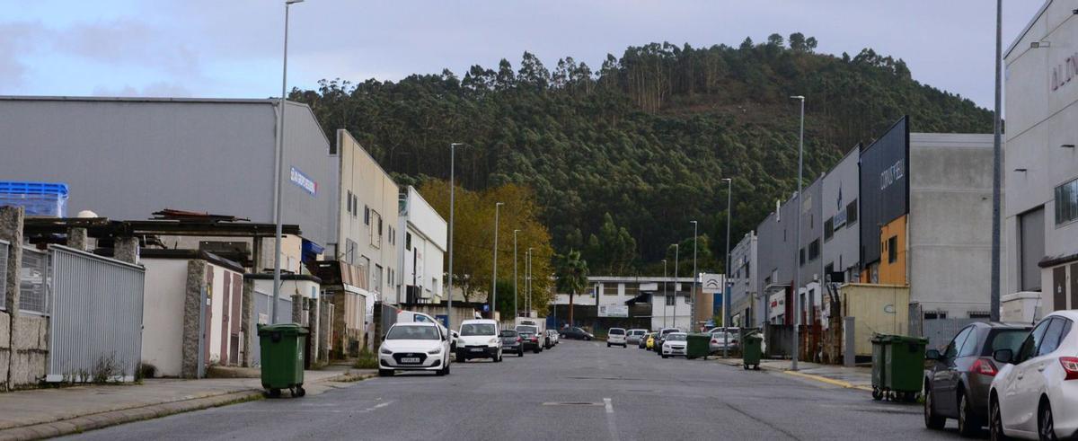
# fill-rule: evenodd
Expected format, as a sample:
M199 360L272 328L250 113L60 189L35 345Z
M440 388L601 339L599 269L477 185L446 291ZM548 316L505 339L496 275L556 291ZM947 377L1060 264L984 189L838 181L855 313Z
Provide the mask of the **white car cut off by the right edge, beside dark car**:
M1003 367L989 391L992 439L1072 439L1078 436L1078 311L1048 315L1015 354L998 349Z

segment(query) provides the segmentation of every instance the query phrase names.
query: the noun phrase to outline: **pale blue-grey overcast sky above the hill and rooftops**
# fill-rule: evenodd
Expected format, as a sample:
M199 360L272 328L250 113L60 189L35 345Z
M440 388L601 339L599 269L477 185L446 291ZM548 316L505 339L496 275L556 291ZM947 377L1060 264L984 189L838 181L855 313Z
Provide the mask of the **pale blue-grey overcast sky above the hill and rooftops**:
M15 0L0 0L14 3ZM36 0L0 16L0 95L280 94L282 0ZM1004 46L1041 0L1008 0ZM903 58L914 79L991 108L992 0L307 0L292 6L289 86L548 66L671 42L737 45L800 31L817 52Z

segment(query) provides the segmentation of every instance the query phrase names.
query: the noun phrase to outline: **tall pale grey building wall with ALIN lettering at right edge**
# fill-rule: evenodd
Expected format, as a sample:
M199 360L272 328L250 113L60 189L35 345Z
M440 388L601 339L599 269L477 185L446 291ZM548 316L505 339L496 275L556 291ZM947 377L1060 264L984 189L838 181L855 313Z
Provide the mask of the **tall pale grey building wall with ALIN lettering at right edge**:
M1054 189L1078 178L1078 81L1066 80L1066 63L1078 58L1073 42L1078 41L1078 22L1073 10L1076 0L1046 2L1041 14L1033 17L1005 56L1007 68L1005 114L1004 180L1007 184L1004 204L1005 254L1004 292L1021 291L1019 268L1022 261L1018 217L1026 211L1045 209L1045 256L1025 257L1040 261L1078 253L1078 222L1055 224ZM1035 41L1050 41L1049 47L1031 49ZM1059 81L1053 82L1053 74ZM1026 171L1014 171L1026 169ZM1041 305L1053 305L1052 267L1041 268ZM1074 273L1074 272L1072 272ZM1070 275L1076 277L1075 274ZM1066 292L1064 292L1066 294ZM1074 292L1066 297L1074 295ZM1073 306L1072 306L1073 307Z

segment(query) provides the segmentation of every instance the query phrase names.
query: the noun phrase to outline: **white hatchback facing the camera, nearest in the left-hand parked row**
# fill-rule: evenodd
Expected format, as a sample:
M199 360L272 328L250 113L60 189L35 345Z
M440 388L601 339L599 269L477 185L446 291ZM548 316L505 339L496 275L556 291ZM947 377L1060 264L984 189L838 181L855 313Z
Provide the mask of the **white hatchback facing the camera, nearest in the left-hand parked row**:
M378 375L396 371L450 373L450 339L436 323L404 322L389 327L378 348Z

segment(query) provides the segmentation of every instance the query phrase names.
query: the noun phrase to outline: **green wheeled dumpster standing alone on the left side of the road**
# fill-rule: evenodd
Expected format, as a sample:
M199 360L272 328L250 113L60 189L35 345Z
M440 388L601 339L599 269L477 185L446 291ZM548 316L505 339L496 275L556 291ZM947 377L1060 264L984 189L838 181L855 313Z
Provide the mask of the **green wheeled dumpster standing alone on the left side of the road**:
M307 330L299 323L280 323L259 327L259 346L262 353L262 387L270 397L280 397L280 389L289 389L293 397L303 397L303 349Z

